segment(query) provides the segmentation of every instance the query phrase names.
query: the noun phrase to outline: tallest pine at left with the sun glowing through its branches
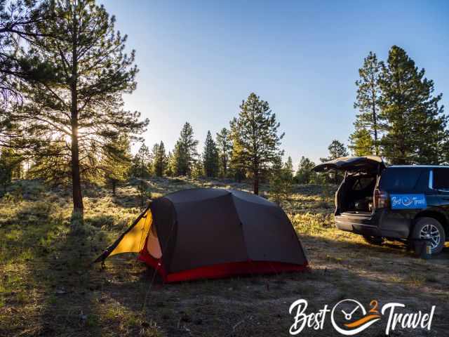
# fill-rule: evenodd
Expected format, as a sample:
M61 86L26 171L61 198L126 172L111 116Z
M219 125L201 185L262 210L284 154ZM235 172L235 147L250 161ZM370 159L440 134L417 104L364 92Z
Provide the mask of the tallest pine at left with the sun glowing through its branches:
M53 176L70 178L74 211L83 211L81 179L98 171L96 149L121 133L135 140L148 121L123 110L121 95L135 89L137 68L134 52L123 53L126 36L114 31L115 18L93 0L55 1L52 18L36 22L26 55L32 62L21 65L27 71L45 60L47 77L20 86L27 104L12 119L35 161L58 161Z

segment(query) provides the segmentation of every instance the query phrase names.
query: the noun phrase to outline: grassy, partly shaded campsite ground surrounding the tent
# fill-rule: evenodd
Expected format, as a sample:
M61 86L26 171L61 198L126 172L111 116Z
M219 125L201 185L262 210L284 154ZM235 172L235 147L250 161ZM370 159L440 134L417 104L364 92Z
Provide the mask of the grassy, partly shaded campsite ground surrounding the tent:
M195 186L246 189L225 181L153 179L153 197ZM335 230L332 198L321 187L296 187L284 204L307 250L311 272L162 285L134 256L90 265L140 213L135 188L91 187L83 219L71 218L70 193L17 182L0 199L0 336L288 336L288 308L309 310L344 298L368 306L400 302L406 311L436 305L431 331L390 336L445 336L449 322L449 248L431 260L398 244L369 246ZM357 336L384 336L385 322ZM336 336L324 331L302 336Z

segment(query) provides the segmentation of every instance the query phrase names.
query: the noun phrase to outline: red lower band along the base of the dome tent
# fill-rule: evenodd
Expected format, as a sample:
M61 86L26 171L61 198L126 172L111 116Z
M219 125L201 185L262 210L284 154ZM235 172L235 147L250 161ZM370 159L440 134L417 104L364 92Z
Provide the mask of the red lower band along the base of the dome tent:
M173 272L167 274L160 259L153 258L146 249L143 249L138 260L145 262L153 267L163 282L180 282L190 281L192 279L221 279L235 275L257 275L257 274L279 274L281 272L301 272L307 270L307 264L295 265L292 263L281 263L271 261L242 261L232 263L221 263L219 265L208 265L206 267L198 267L182 272Z

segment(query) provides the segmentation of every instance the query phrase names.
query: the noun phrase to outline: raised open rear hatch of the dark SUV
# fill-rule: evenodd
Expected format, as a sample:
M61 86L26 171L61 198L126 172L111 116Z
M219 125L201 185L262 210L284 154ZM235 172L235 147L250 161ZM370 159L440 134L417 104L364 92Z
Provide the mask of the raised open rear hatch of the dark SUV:
M385 169L384 161L382 158L375 156L340 157L314 167L315 172L340 170L349 172L380 173L383 169Z

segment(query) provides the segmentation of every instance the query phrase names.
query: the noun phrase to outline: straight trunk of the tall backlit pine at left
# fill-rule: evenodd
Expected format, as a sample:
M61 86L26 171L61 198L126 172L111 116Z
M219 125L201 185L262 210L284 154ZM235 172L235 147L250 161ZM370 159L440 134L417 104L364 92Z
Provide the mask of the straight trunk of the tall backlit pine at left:
M73 32L72 32L72 78L70 79L70 93L72 105L70 107L70 117L72 124L72 194L73 194L73 210L74 212L83 213L83 196L81 194L81 176L79 172L79 144L78 144L78 91L76 88L78 74L77 60L77 41L76 36L77 25L76 15L73 14Z

